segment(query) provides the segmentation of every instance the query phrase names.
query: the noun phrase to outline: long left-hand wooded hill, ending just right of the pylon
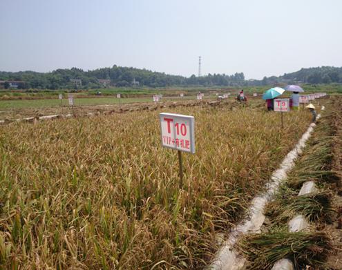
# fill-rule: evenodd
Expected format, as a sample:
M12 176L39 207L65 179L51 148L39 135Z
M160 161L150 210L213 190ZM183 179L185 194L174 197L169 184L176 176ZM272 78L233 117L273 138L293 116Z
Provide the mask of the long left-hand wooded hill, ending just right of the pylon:
M57 69L50 73L22 71L17 73L1 72L0 81L21 81L18 88L100 88L109 86L238 86L245 82L243 73L234 75L207 75L205 77L182 77L167 75L139 68L113 66L84 71L79 68ZM9 87L9 84L6 84Z

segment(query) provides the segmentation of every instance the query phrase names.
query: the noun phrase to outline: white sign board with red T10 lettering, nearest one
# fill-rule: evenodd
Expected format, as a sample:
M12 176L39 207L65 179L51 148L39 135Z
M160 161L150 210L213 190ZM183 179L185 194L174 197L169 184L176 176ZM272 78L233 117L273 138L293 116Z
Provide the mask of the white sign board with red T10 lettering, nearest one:
M195 153L195 117L160 113L162 146Z

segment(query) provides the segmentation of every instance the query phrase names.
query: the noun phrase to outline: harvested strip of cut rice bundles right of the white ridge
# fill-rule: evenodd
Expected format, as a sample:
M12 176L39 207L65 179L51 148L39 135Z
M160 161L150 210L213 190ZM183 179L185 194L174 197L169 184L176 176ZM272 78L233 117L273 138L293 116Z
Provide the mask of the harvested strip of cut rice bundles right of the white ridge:
M341 102L339 97L325 104L294 169L266 206L263 233L239 240L251 269L273 269L285 258L294 269L341 269ZM314 189L305 193L301 188L309 181ZM291 228L295 217L306 224Z

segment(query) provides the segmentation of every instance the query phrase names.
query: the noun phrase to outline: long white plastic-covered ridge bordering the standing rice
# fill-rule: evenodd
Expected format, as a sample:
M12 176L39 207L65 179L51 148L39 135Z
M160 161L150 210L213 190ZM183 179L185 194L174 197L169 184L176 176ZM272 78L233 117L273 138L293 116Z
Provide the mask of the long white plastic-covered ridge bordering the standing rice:
M325 107L322 106L321 110ZM317 115L316 119L319 119L321 114ZM274 173L272 173L270 182L266 185L266 191L261 195L254 197L251 201L251 206L247 210L247 218L242 220L234 229L231 230L229 238L222 244L222 247L216 253L213 262L209 265L208 269L213 270L237 270L243 269L245 265L245 258L237 253L234 249L238 238L246 233L258 232L263 225L265 215L263 209L267 202L272 200L280 184L286 179L287 173L294 167L294 160L298 157L298 154L302 153L307 139L310 138L312 131L314 131L316 124L310 124L307 131L299 139L296 146L287 153L283 162Z

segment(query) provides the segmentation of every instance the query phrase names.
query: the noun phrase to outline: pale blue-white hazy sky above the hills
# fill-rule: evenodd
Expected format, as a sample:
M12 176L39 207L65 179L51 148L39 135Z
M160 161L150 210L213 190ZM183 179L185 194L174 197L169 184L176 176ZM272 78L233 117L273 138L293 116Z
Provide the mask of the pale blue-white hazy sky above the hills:
M342 66L341 0L0 0L0 70L173 75Z

